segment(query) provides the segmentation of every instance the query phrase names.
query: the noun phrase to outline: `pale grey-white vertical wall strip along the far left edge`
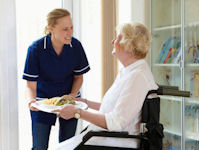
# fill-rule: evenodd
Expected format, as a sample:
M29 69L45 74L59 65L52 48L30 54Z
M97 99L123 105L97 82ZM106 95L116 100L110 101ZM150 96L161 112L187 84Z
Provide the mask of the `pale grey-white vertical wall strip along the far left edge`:
M0 18L0 150L17 150L15 0L0 0Z

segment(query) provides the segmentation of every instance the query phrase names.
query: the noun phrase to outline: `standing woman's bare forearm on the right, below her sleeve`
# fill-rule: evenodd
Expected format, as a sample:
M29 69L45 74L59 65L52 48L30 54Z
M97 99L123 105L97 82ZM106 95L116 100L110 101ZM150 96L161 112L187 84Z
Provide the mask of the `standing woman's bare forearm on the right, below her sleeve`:
M83 75L74 75L73 86L70 95L77 96L83 83Z

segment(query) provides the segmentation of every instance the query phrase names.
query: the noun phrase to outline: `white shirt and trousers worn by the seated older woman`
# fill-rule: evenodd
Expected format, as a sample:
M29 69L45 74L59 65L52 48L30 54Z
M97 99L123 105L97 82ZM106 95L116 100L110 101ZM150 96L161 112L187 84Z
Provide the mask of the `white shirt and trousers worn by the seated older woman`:
M153 75L145 60L138 60L122 68L113 85L104 95L99 110L100 113L105 114L108 130L139 134L141 108L144 99L149 90L157 88L158 86L155 84ZM90 125L87 132L98 129L100 128ZM78 145L84 134L62 142L57 150L68 149L67 146L69 145ZM100 141L98 140L98 142ZM136 143L134 144L135 147L137 147ZM71 147L71 149L73 148Z

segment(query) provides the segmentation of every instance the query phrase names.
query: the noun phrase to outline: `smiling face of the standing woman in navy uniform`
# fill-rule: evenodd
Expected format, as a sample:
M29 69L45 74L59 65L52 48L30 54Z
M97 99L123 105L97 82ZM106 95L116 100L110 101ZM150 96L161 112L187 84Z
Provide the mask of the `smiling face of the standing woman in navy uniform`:
M60 44L70 44L73 35L73 22L70 16L57 19L56 25L50 27L52 40Z

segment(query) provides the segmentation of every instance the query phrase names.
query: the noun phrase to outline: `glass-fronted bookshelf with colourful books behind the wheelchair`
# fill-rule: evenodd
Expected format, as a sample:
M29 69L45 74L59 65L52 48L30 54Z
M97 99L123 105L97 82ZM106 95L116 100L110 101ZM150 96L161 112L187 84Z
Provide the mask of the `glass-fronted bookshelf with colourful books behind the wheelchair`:
M163 149L198 149L199 0L150 2L154 78L158 84L191 92L191 98L161 96Z

